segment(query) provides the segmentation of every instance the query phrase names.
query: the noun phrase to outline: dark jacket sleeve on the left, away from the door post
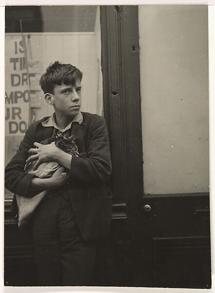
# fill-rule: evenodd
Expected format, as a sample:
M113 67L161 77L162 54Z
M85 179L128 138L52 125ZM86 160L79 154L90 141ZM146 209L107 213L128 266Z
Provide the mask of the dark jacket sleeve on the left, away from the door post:
M5 167L5 187L11 192L31 197L29 186L33 175L24 172L28 150L33 146L33 125L30 125L15 156Z

